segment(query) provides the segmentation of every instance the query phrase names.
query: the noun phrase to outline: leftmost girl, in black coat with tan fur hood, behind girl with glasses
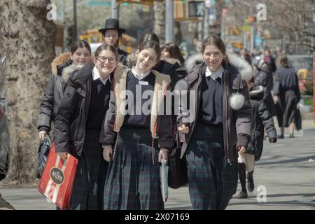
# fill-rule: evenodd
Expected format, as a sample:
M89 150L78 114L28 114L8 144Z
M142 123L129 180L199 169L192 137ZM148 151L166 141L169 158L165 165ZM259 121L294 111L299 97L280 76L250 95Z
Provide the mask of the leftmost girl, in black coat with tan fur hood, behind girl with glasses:
M66 81L74 71L90 62L90 57L90 45L86 41L76 41L71 45L70 52L63 53L53 60L52 76L43 94L38 115L39 139L44 140L45 135L50 132L51 123L55 122L66 89Z

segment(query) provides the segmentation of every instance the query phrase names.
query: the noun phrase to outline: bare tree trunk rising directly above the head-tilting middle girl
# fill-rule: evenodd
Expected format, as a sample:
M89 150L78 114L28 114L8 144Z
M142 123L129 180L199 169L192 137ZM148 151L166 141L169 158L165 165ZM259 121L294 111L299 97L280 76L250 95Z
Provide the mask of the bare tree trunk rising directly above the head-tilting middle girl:
M160 43L165 43L165 2L154 2L154 32L158 34Z

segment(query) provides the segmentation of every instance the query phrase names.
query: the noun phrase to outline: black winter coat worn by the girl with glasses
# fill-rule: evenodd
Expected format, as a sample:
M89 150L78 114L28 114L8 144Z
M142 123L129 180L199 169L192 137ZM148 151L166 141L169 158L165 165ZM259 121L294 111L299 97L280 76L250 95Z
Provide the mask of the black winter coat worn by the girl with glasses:
M93 68L94 63L89 62L67 81L55 120L56 152L73 153L75 150L78 155L81 155L83 151Z

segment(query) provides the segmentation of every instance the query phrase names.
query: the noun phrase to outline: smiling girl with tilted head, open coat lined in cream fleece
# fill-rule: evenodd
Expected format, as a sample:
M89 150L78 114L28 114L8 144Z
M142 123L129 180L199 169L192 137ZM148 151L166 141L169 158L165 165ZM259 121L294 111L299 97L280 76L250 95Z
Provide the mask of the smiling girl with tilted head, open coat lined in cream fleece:
M136 65L114 78L100 137L104 158L111 161L104 209L164 209L159 162L167 160L174 135L171 117L158 113L170 83L169 76L152 70L160 55L158 43L145 41L136 52ZM127 92L132 94L127 96Z

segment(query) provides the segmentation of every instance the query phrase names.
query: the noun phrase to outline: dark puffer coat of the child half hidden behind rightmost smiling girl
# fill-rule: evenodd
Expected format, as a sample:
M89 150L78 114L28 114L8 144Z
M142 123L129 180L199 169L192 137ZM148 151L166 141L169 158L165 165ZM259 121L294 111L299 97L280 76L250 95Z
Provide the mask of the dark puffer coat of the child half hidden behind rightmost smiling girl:
M251 98L251 106L253 106L253 124L251 131L251 142L248 143L246 153L255 155L255 160L259 160L262 155L263 141L264 141L264 127L267 131L269 139L276 139L276 128L274 127L274 120L270 116L265 102L262 98L264 96L263 87L260 85L254 87L249 92Z

